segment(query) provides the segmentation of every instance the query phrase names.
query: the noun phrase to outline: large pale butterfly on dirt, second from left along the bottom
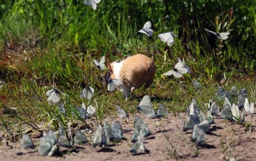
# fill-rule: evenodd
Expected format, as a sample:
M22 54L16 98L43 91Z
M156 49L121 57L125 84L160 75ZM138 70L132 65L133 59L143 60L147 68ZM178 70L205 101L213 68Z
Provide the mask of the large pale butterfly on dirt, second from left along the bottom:
M57 141L56 135L49 130L45 136L41 137L39 140L38 153L41 156L52 156L58 149L56 145Z

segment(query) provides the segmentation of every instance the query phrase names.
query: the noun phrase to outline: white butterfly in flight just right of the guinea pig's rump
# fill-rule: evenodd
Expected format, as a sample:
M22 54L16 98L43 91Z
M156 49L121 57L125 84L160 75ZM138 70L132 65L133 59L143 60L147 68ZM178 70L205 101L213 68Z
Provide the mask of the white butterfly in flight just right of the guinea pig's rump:
M178 62L176 63L175 67L171 70L168 71L166 73L164 73L163 75L173 75L176 78L180 78L182 77L182 74L188 73L188 68L185 67L185 62Z

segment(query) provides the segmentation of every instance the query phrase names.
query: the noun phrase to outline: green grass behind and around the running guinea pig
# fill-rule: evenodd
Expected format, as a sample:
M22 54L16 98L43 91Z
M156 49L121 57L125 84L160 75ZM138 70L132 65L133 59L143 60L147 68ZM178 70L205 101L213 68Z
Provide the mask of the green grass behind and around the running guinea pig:
M0 62L0 79L5 82L0 88L0 113L14 132L23 128L24 121L31 126L46 122L48 126L54 119L56 129L58 122L79 122L70 114L62 118L56 114L56 106L48 105L45 93L54 75L56 88L66 94L63 99L71 110L81 105L79 94L85 85L95 89L92 106L98 107L97 121L116 114L116 104L128 113L136 113L135 106L149 90L155 108L163 102L176 114L185 111L196 97L205 109L204 103L214 97L224 75L224 86L245 87L250 100L256 102L253 0L180 0L167 4L165 0L102 0L95 11L77 0L0 2L0 56L7 62ZM168 12L169 19L165 17ZM148 20L155 30L153 38L137 32ZM229 39L220 41L208 36L204 27L233 31ZM156 36L168 31L179 35L172 47ZM110 63L137 53L151 57L158 69L150 89L136 90L125 102L119 91L107 92L105 73L94 67L93 59L105 55L106 63ZM184 58L192 72L181 79L162 77L177 57ZM203 89L197 91L192 80L198 80ZM10 107L17 109L13 112Z

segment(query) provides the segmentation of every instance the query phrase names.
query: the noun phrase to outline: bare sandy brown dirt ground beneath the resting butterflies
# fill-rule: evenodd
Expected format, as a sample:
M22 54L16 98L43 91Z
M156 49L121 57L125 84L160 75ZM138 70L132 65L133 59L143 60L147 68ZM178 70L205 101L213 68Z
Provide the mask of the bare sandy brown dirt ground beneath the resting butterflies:
M140 114L139 114L140 115ZM185 117L186 114L182 114ZM152 137L144 140L145 147L150 153L132 155L129 149L132 145L134 116L127 119L108 118L106 120L118 120L122 125L124 139L116 145L108 148L92 147L93 133L86 134L90 145L84 145L72 149L60 148L59 152L52 157L40 156L36 149L24 150L20 148L19 142L0 146L0 161L222 161L228 157L236 160L256 160L256 131L252 133L245 130L243 125L228 122L220 117L215 118L216 126L211 127L207 133L207 141L202 146L196 146L190 141L192 130L183 132L183 125L178 116L169 114L164 119L143 118L152 132ZM247 122L252 122L252 128L256 129L256 118L252 120L247 116ZM95 120L89 124L96 128ZM38 138L33 141L38 145Z

